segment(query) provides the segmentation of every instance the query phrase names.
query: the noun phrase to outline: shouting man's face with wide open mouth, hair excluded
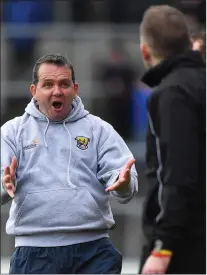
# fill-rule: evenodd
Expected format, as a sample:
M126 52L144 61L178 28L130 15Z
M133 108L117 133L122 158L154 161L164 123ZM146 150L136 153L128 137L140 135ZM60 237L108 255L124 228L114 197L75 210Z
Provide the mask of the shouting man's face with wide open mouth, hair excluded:
M39 81L30 91L39 104L39 110L50 120L65 119L72 101L78 93L78 84L72 81L72 71L67 66L43 63L38 71Z

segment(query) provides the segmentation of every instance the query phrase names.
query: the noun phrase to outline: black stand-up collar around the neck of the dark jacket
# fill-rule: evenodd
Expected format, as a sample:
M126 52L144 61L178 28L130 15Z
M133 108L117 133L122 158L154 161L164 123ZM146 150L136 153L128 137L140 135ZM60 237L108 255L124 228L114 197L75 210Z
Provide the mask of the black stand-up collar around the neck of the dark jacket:
M163 78L178 68L205 68L205 63L199 52L189 50L184 54L171 56L149 69L142 82L149 87L158 86Z

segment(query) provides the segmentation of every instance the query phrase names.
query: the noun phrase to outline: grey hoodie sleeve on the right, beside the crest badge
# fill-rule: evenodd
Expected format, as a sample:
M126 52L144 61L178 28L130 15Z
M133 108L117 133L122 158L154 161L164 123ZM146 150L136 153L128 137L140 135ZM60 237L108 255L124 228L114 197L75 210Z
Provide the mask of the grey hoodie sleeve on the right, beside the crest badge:
M105 122L99 135L97 178L105 183L107 188L117 180L127 161L134 157L124 140L110 124ZM125 192L111 191L111 196L119 203L128 203L138 191L137 178L136 168L133 165L128 190Z

